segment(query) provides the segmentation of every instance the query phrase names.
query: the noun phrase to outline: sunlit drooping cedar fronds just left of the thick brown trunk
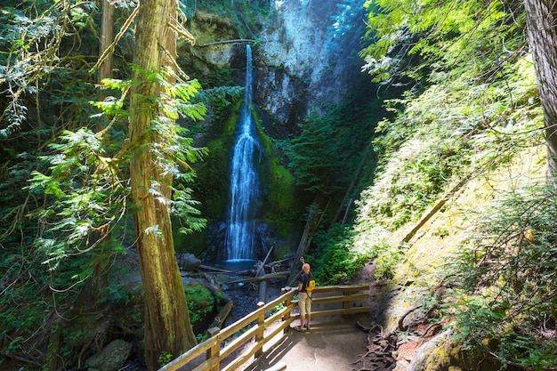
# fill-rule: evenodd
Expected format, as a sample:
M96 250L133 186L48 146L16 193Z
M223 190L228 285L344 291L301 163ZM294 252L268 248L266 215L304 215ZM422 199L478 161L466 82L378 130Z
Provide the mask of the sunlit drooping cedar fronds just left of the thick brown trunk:
M49 256L45 263L55 269L58 260L94 246L97 241L89 238L95 230L109 233L116 227L129 189L120 176L122 163L109 156L100 134L65 131L50 148L52 155L43 157L49 173L33 172L28 188L51 197L31 216L49 225L37 243Z

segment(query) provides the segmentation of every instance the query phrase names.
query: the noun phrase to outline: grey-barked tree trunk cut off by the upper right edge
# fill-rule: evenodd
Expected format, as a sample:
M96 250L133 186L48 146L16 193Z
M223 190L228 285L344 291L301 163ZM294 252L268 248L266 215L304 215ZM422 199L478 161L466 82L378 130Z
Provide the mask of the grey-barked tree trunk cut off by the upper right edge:
M544 109L547 174L557 173L557 3L524 0L529 48L536 67L539 98Z

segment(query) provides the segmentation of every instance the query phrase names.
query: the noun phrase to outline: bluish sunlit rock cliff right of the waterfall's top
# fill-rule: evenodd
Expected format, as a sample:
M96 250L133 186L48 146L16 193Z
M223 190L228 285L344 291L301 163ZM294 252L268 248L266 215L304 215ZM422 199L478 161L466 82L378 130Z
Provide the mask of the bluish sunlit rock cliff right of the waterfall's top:
M360 72L364 1L276 1L255 49L254 101L292 127L311 109L369 86Z

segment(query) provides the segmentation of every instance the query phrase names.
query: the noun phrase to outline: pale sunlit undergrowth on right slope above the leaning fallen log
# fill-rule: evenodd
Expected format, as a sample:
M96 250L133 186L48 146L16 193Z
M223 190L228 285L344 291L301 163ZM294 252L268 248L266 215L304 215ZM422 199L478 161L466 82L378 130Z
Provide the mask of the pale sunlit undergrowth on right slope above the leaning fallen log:
M397 116L376 129L380 160L370 180L375 184L360 201L366 215L388 230L400 228L424 213L449 184L542 140L536 129L543 115L535 105L529 59L517 60L505 73L505 79L489 85L471 85L459 77L431 85L419 96L408 93L404 100L388 102Z

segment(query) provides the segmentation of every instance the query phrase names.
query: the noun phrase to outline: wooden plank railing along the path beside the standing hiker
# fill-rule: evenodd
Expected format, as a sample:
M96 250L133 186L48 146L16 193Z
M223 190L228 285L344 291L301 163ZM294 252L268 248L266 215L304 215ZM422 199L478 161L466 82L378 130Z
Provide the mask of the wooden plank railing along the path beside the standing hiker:
M296 294L293 290L282 290L283 293L272 302L259 303L257 310L251 312L243 319L239 319L229 327L209 329L209 338L199 343L196 347L183 353L177 359L167 364L159 371L176 371L188 365L194 359L199 359L205 354L205 361L193 369L193 371L230 371L235 370L252 357L258 358L263 353L263 346L276 335L287 333L290 324L299 318L299 314L292 315L292 310L297 306L293 300ZM359 293L362 292L364 293ZM342 308L327 311L311 311L311 319L327 316L345 316L357 313L369 312L367 305L353 307L352 302L366 300L369 297L369 286L318 286L312 294L311 304L315 308L317 304L342 302ZM278 326L270 327L277 323ZM269 329L269 331L265 331ZM241 333L241 334L240 334ZM238 335L240 334L240 335ZM232 338L233 335L237 335ZM246 345L254 339L254 345L236 359L230 361L221 368L221 362L234 351Z

